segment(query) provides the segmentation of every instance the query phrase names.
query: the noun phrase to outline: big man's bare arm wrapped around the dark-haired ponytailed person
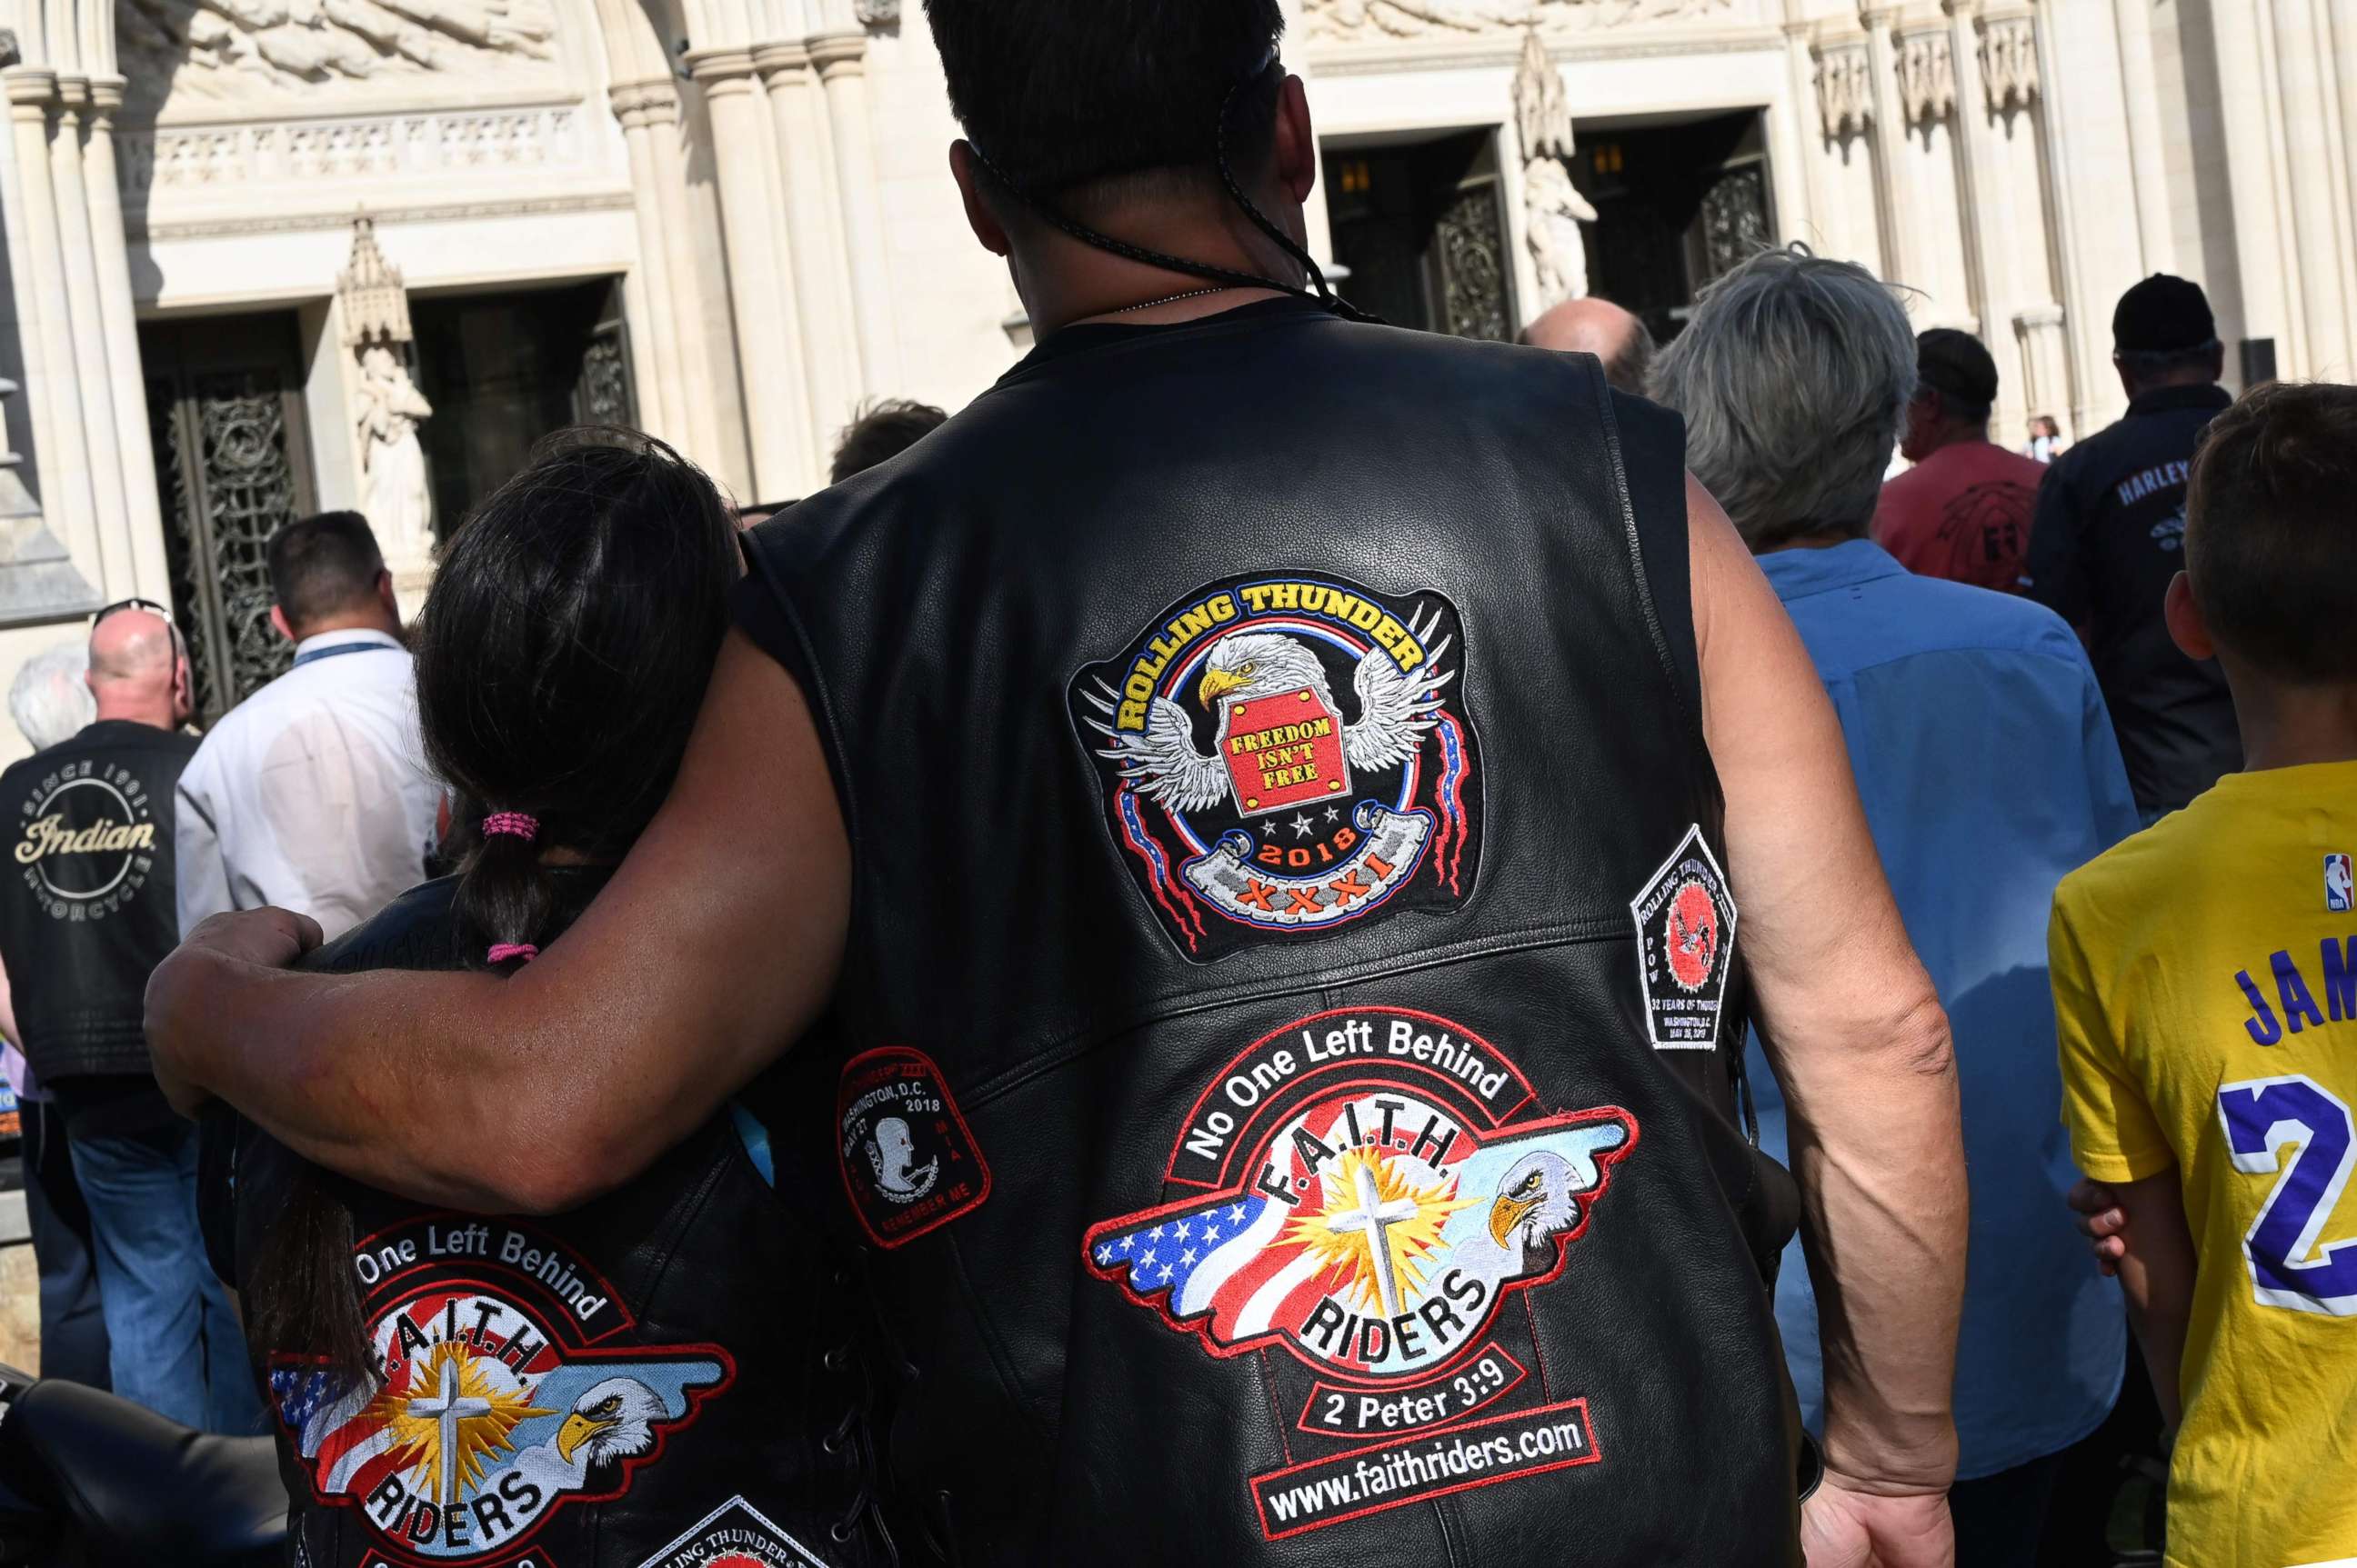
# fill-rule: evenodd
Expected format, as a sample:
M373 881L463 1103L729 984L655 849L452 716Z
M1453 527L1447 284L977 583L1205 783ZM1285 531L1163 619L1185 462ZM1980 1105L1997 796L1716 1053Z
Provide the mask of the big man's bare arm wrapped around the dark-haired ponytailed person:
M148 1045L184 1107L219 1095L344 1175L427 1203L570 1208L801 1034L849 899L801 687L731 633L662 812L511 979L292 975L271 968L299 946L288 916L219 916L156 970Z

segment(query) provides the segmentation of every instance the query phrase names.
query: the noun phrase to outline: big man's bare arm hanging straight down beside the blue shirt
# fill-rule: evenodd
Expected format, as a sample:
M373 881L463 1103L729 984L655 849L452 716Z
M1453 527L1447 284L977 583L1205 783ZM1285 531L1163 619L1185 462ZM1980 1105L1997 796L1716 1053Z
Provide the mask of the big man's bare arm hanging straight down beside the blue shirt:
M1808 650L1692 483L1688 516L1704 735L1817 1285L1827 1467L1860 1490L1937 1493L1956 1464L1966 1245L1947 1015L1890 899Z

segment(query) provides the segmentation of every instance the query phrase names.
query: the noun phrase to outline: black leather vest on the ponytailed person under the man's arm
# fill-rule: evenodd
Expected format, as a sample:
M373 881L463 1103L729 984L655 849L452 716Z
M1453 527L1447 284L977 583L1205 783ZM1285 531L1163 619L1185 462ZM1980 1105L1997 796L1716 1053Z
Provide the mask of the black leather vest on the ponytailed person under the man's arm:
M570 904L601 876L563 873ZM313 968L460 968L427 883ZM431 1118L464 1083L408 1083ZM530 1114L509 1135L530 1140ZM252 1285L299 1172L351 1208L382 1387L257 1344L306 1568L860 1568L867 1368L830 1262L721 1114L620 1191L547 1220L420 1208L240 1125L229 1182ZM764 1154L766 1158L766 1154Z

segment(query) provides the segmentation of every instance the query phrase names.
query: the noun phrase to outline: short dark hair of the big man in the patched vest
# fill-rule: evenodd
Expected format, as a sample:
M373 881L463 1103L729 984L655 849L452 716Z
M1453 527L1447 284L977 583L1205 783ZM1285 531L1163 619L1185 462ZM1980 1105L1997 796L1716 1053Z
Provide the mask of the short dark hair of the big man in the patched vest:
M924 12L966 139L1030 195L1209 172L1223 104L1230 165L1268 158L1277 0L924 0ZM1254 92L1235 92L1247 82Z

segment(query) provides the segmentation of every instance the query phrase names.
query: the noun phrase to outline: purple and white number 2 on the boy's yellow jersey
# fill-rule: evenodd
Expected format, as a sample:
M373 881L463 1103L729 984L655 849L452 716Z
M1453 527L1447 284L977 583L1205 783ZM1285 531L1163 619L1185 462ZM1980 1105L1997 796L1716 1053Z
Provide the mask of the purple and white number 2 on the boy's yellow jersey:
M2234 1170L2275 1187L2242 1238L2251 1290L2265 1307L2357 1316L2357 1238L2319 1243L2357 1165L2357 1128L2338 1095L2305 1074L2244 1078L2218 1090L2218 1121ZM2291 1163L2277 1149L2298 1144Z

